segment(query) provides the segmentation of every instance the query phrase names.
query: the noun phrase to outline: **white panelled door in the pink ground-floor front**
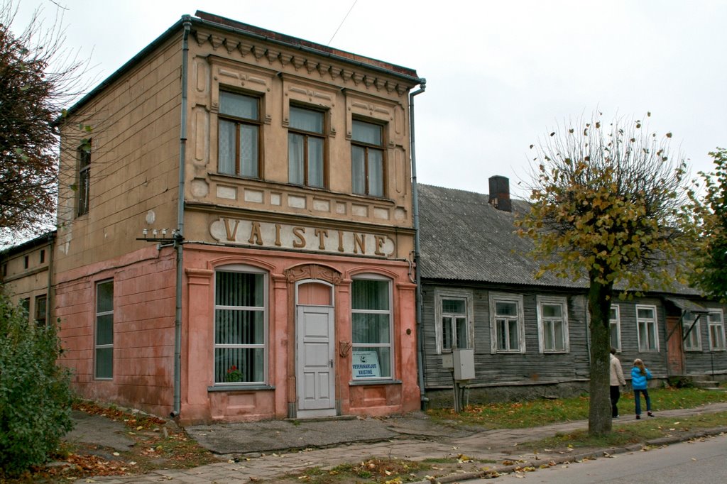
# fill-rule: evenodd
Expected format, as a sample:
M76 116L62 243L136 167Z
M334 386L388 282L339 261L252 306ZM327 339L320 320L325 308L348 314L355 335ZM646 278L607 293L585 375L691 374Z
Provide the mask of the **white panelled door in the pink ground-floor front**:
M298 416L336 414L333 331L333 307L298 306Z

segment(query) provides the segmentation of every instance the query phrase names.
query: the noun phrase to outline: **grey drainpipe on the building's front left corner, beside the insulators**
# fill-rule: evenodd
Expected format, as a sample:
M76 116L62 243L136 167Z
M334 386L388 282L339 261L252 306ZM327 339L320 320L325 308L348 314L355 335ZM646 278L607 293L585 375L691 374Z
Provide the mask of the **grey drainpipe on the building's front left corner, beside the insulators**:
M184 193L185 158L187 154L187 70L189 56L189 31L192 19L182 16L182 117L180 120L180 183L177 195L177 231L174 233L174 249L177 249L177 282L174 294L174 408L172 417L180 414L182 402L182 241L184 241Z

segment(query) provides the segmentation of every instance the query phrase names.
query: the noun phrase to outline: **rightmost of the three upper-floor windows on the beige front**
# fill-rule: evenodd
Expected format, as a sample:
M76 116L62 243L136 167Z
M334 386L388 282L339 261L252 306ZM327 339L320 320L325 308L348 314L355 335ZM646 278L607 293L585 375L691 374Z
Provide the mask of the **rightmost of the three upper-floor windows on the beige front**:
M384 135L379 124L354 119L351 132L353 193L384 196Z

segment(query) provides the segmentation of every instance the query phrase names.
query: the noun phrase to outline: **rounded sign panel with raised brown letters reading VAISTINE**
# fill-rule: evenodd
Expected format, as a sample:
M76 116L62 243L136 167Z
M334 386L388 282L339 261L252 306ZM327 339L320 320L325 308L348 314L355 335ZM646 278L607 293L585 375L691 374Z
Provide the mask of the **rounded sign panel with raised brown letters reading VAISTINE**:
M386 235L350 232L322 227L220 217L209 225L209 233L222 243L276 247L332 254L393 257L395 242Z

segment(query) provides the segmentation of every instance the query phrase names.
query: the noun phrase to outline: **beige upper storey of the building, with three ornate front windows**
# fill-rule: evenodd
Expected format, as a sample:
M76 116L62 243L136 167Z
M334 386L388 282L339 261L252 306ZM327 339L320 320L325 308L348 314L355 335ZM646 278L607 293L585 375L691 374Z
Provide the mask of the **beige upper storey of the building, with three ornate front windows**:
M408 258L416 72L198 17L183 17L71 110L58 272L141 249L145 229L148 237L182 228L187 241ZM230 137L234 130L243 134ZM252 158L253 173L244 166Z

